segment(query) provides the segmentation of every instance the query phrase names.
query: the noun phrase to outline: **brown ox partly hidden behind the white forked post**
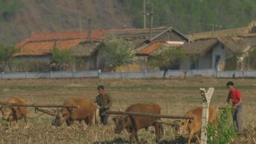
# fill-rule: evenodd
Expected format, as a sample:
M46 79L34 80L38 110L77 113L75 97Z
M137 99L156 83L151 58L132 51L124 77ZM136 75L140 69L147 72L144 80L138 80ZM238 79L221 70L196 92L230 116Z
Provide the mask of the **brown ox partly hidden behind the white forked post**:
M175 124L176 136L182 136L184 132L188 132L188 144L195 136L197 143L200 143L199 134L202 128L202 107L190 109L185 116L193 116L194 120L181 120L179 124ZM209 123L216 123L218 120L217 108L209 108Z

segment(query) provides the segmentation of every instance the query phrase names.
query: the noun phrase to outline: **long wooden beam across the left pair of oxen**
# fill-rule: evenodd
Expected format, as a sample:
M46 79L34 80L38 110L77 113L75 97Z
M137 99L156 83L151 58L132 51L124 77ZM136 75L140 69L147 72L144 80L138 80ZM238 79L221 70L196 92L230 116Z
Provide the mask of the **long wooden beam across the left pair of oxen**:
M54 104L16 104L12 102L0 102L0 106L19 106L19 107L35 107L35 108L79 108L79 106L63 106Z

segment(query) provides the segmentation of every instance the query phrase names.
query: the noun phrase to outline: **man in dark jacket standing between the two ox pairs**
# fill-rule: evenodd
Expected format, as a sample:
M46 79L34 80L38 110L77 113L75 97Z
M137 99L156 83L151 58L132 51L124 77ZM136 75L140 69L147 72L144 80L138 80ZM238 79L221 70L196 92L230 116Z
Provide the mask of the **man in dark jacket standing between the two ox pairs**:
M100 122L103 125L107 125L109 115L106 114L106 111L108 111L110 109L110 107L112 105L112 99L105 92L104 86L102 86L102 85L98 86L98 92L99 92L99 95L97 95L95 103L97 104L97 106L99 108Z

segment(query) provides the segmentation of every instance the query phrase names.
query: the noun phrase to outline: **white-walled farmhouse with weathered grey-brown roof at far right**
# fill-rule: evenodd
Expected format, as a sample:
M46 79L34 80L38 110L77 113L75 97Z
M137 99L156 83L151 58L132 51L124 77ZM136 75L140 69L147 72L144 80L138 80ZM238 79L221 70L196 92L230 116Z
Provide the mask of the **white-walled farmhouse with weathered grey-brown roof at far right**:
M180 64L180 69L216 69L225 70L225 63L234 54L239 54L238 61L243 63L252 47L256 46L256 37L224 37L196 40L183 46L187 54L196 56L195 61L186 61ZM237 67L243 69L243 65Z

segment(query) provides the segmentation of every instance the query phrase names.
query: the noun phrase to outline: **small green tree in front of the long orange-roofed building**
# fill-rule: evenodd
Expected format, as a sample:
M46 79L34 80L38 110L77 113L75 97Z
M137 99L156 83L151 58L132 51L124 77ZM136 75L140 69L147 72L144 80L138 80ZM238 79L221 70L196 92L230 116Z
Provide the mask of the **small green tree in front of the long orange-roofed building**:
M69 51L60 51L57 47L54 47L51 62L54 70L63 70L64 65L72 62L72 54Z

